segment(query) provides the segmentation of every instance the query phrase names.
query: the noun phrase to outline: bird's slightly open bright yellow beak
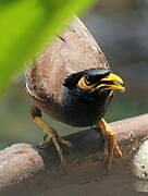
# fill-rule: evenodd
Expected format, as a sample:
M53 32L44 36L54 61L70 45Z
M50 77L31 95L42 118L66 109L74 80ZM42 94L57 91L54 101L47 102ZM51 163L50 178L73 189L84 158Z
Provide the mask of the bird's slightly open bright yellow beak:
M112 89L112 90L121 90L121 91L125 91L125 87L122 86L123 81L120 76L110 73L107 77L102 78L101 82L112 82L113 84L100 84L97 86L97 88L101 88L101 91L108 90L108 89Z

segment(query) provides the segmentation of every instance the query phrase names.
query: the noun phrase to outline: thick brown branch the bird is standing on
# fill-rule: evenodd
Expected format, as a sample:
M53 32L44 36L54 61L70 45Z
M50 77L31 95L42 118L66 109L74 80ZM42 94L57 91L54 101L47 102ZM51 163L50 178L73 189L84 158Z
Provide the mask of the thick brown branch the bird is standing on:
M127 160L127 157L131 159L135 140L140 140L148 135L148 114L118 121L110 125L116 131L116 138L122 144L123 155ZM66 176L75 179L86 174L90 179L96 171L99 175L102 161L97 164L97 157L101 157L101 152L97 152L102 151L103 142L98 132L92 128L86 130L65 136L64 139L71 140L74 145L73 149L64 149L69 160L69 174L60 169L59 157L53 146L38 149L28 144L15 144L2 150L0 152L0 195L28 195L28 193L40 195L49 188L61 186L61 182L64 185L69 184ZM119 159L114 162L119 162ZM113 171L118 170L115 163L114 166ZM61 179L63 176L64 180Z

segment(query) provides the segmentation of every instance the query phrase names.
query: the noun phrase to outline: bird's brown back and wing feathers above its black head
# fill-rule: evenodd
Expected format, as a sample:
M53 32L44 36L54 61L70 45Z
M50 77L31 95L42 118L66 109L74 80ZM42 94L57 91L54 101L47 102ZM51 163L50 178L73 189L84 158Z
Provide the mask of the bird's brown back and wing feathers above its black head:
M109 69L109 64L86 26L74 17L26 72L28 93L38 99L59 99L64 78L90 68Z

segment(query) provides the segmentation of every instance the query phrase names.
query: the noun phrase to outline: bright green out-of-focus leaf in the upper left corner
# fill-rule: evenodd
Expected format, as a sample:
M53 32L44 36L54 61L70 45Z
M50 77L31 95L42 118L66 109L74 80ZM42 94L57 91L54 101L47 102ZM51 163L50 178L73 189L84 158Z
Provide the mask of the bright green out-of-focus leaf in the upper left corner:
M1 0L0 93L23 64L95 0Z

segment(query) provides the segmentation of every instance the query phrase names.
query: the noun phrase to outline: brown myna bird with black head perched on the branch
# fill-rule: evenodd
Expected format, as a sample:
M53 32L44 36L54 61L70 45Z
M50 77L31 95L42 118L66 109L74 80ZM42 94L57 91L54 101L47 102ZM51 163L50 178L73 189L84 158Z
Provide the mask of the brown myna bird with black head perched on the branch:
M26 90L32 98L33 121L45 132L40 146L53 143L61 164L66 166L58 132L42 119L42 113L64 124L83 127L96 125L107 140L107 168L113 155L122 157L114 131L104 114L114 91L125 91L122 78L114 74L87 27L77 17L64 27L60 36L47 42L25 70Z

